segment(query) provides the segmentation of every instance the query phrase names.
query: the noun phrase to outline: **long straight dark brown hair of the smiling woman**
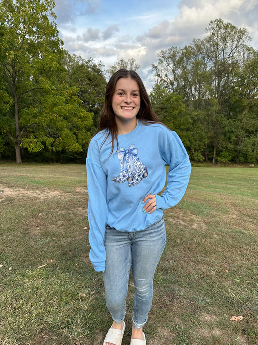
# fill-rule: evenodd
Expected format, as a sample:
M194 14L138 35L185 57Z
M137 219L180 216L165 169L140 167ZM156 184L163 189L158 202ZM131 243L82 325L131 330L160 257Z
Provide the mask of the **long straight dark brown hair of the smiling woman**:
M132 78L137 82L139 86L141 105L140 105L140 110L138 114L136 115L136 117L145 124L162 123L160 119L158 118L158 116L155 114L154 110L152 109L150 99L148 97L147 91L144 87L144 84L140 76L135 71L127 70L125 68L118 70L112 75L109 82L107 83L106 93L105 93L105 102L104 102L101 115L100 115L99 130L97 131L98 133L102 130L106 130L106 137L103 140L101 147L106 142L109 134L111 134L111 141L112 141L111 153L114 151L115 141L118 145L117 124L115 120L115 114L112 108L112 97L116 90L116 83L120 78Z

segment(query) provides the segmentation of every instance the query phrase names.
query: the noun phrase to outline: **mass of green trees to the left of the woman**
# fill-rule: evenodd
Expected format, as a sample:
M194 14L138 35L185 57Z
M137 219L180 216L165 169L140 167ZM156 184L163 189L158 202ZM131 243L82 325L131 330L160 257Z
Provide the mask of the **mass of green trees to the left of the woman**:
M106 78L101 63L63 49L54 6L0 2L1 159L85 161Z

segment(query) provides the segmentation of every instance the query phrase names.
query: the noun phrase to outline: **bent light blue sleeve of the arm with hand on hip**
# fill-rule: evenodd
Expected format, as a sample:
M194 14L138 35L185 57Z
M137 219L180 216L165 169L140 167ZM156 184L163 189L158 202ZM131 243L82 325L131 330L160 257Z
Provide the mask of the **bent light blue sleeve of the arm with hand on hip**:
M169 165L167 186L164 193L156 196L157 209L168 209L175 206L184 196L191 174L191 163L181 139L173 131L171 141L162 157Z

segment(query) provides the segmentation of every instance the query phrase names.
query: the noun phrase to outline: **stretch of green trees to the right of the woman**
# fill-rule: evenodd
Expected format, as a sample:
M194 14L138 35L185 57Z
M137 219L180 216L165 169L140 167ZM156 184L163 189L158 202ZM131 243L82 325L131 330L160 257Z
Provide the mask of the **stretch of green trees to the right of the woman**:
M221 19L204 39L159 53L152 104L196 161L258 162L258 51Z

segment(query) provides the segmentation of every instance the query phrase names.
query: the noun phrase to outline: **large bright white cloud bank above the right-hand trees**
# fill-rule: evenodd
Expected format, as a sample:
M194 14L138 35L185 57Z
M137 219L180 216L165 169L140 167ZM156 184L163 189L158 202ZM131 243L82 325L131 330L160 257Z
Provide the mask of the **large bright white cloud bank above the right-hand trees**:
M238 22L240 27L247 27L257 42L257 18L250 20L257 4L258 0L182 0L179 3L179 14L174 19L170 22L162 21L137 37L137 42L146 52L145 56L140 57L139 63L147 67L154 62L153 56L157 59L160 50L171 46L182 47L190 44L193 38L203 38L209 22L220 17L234 25Z

